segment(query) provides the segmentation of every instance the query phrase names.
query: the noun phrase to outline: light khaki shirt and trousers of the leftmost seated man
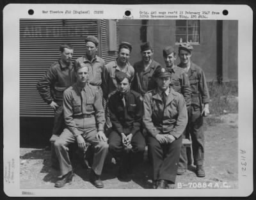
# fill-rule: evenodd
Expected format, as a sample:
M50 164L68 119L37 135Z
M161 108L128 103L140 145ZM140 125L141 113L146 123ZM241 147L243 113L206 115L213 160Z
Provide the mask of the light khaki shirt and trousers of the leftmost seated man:
M67 151L68 144L76 142L77 135L82 135L94 148L92 169L100 175L108 154L108 143L96 138L97 132L103 131L105 123L99 91L90 84L81 88L76 83L64 92L63 105L67 128L54 143L61 174L67 174L72 170Z

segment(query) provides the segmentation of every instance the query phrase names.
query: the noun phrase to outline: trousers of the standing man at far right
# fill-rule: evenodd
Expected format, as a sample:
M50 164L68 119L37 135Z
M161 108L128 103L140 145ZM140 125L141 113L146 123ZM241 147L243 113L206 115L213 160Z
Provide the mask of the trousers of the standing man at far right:
M194 165L204 164L204 117L201 112L202 109L198 105L191 105L186 127L186 138L189 139L189 134L191 135ZM187 160L186 149L180 151L180 168L187 168L184 160Z

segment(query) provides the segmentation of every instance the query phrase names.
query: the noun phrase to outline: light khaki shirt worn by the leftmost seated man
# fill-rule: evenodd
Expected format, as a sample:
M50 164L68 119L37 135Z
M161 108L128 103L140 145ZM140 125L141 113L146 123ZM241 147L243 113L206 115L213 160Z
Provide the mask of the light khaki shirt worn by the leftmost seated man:
M70 86L64 91L63 109L65 123L74 135L80 135L74 118L81 118L83 114L95 116L98 131L104 129L105 117L102 98L95 86L86 84L81 88L77 83Z

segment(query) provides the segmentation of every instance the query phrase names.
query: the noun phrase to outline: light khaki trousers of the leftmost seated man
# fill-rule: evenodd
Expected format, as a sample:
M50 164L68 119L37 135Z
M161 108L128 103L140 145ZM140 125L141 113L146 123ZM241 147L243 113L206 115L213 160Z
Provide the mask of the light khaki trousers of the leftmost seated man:
M100 175L104 165L104 160L108 154L108 143L99 141L96 138L97 127L95 118L75 118L77 129L81 132L84 141L92 144L94 149L92 169L95 174ZM72 170L70 158L68 156L67 146L70 143L76 142L76 137L65 128L60 137L54 142L55 151L60 162L60 171L62 175L67 174Z

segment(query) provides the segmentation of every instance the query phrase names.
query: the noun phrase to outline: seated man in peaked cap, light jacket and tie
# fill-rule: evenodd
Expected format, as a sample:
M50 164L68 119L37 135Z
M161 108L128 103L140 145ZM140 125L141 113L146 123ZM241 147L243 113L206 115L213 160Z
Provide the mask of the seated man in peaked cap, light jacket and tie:
M154 72L157 87L144 95L143 123L148 132L148 154L153 164L154 188L169 188L175 183L182 145L188 123L184 97L170 86L166 67Z

